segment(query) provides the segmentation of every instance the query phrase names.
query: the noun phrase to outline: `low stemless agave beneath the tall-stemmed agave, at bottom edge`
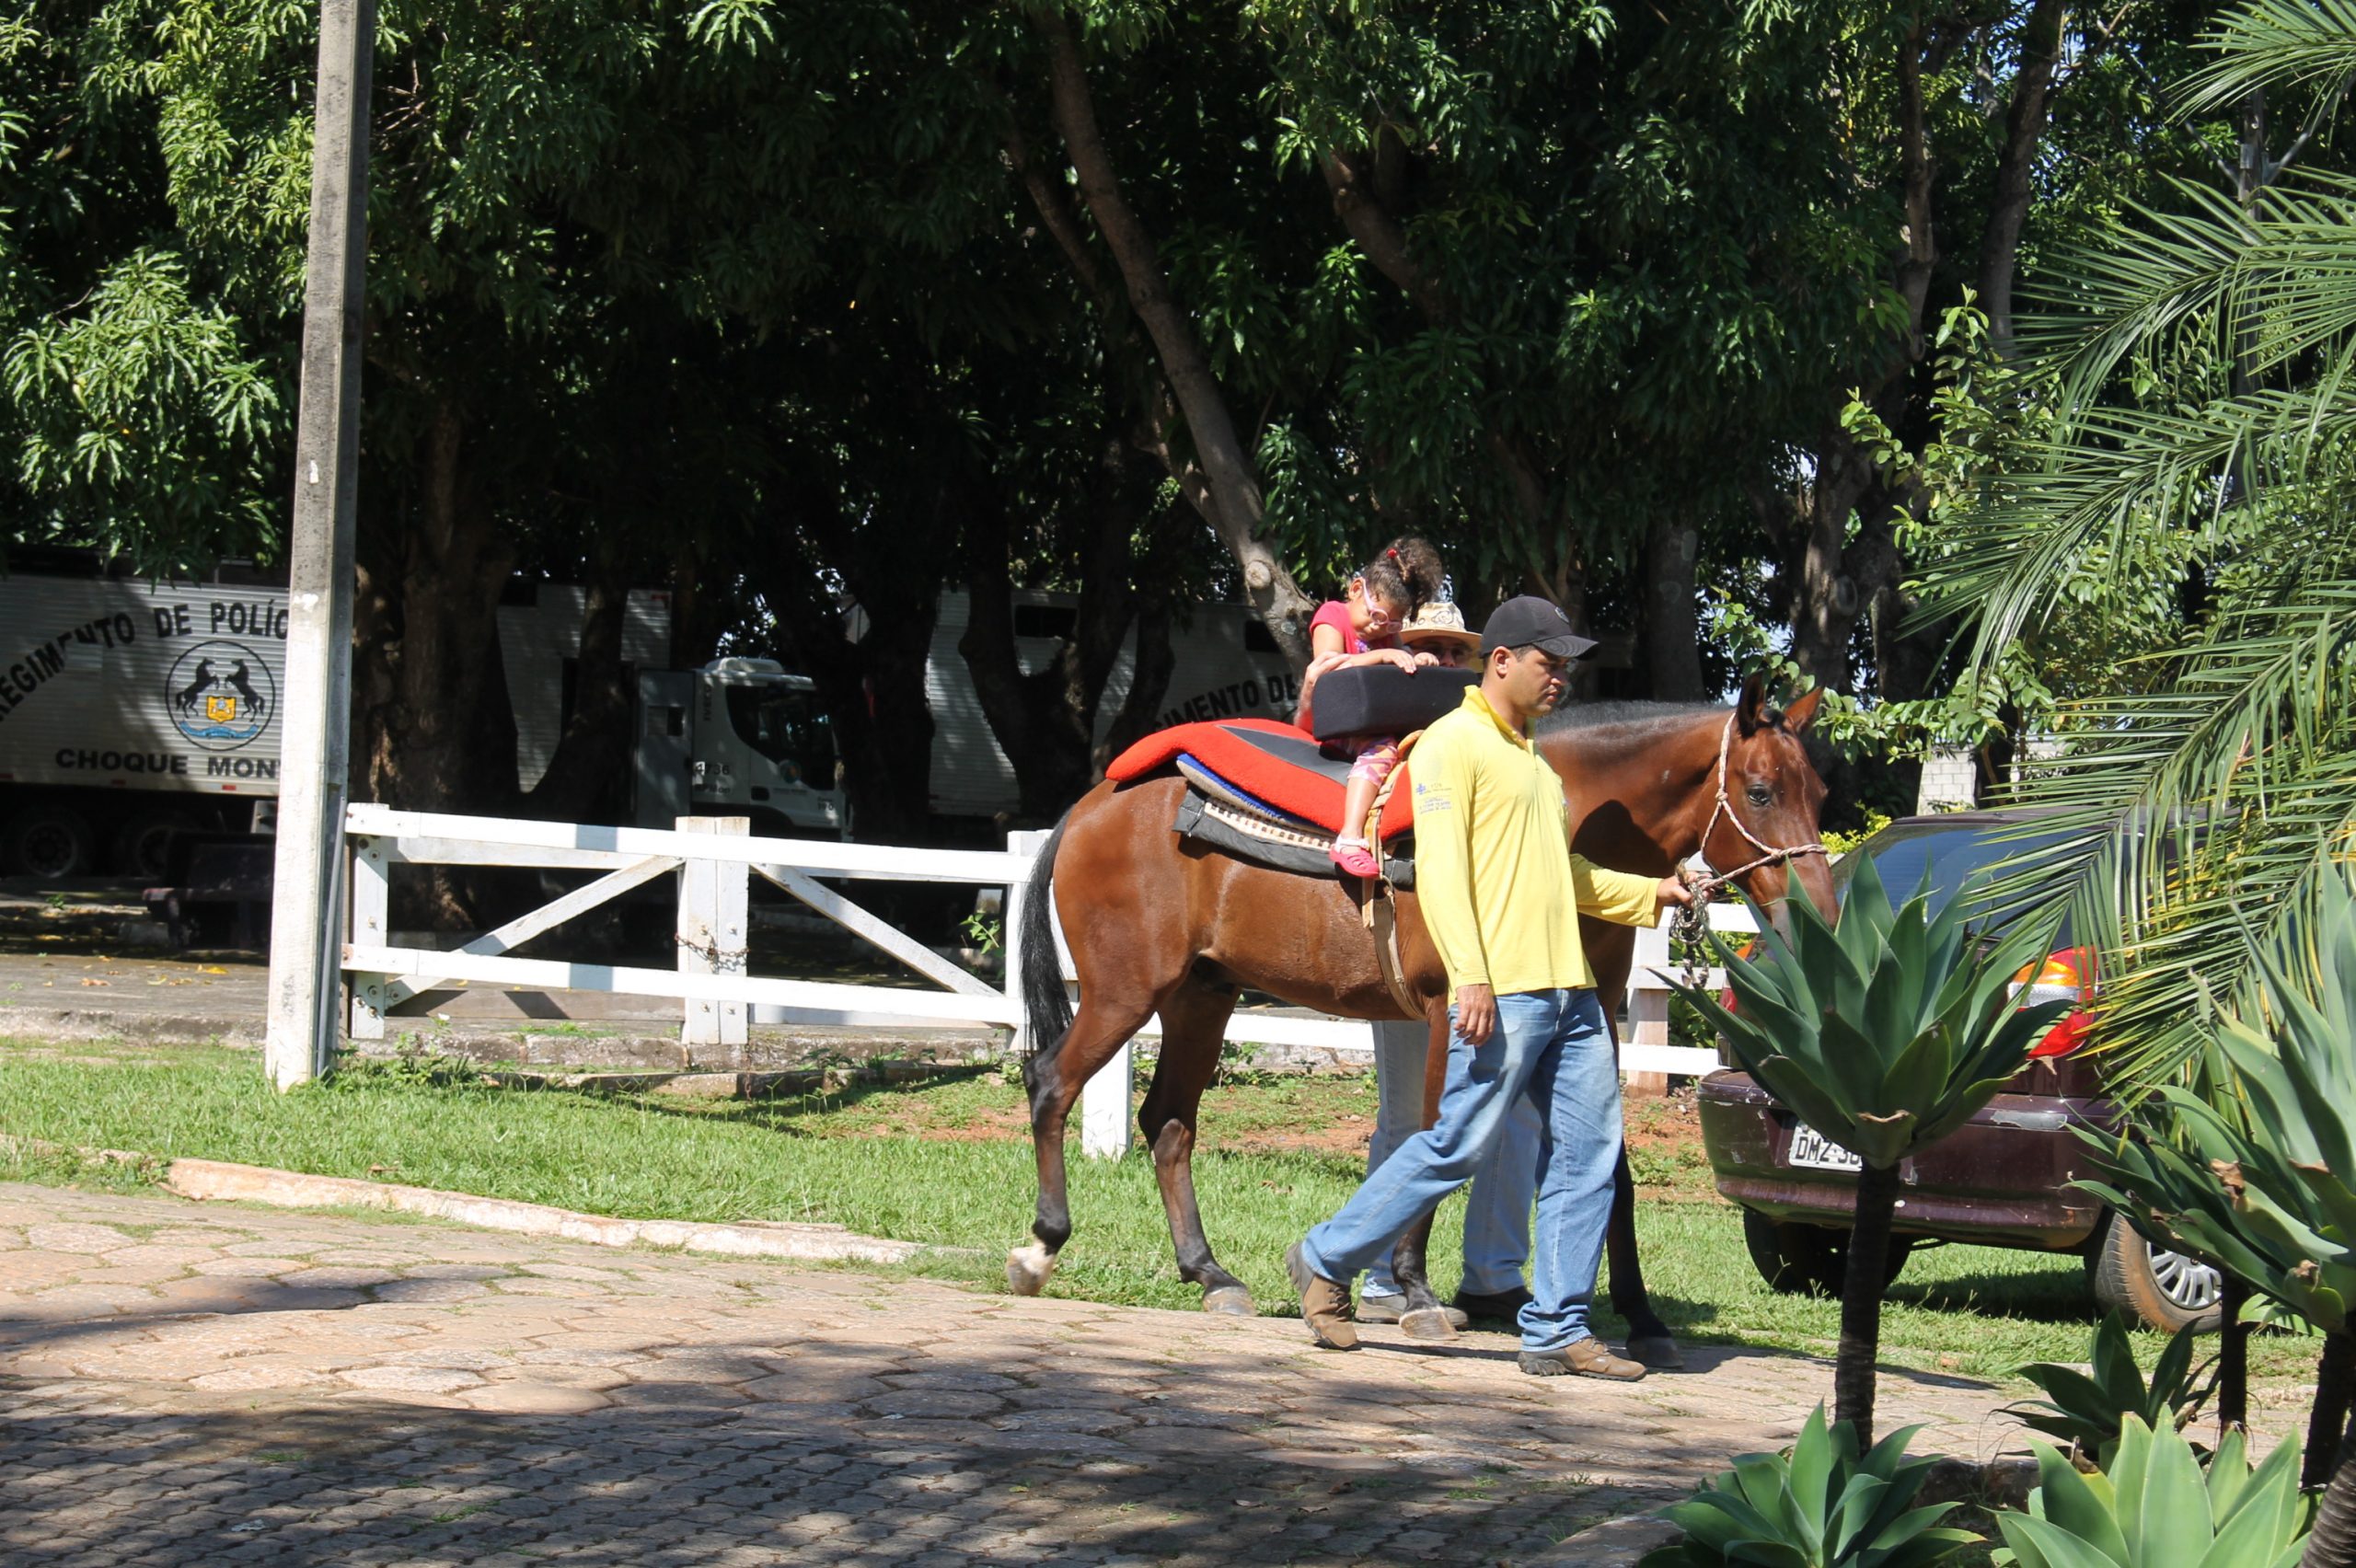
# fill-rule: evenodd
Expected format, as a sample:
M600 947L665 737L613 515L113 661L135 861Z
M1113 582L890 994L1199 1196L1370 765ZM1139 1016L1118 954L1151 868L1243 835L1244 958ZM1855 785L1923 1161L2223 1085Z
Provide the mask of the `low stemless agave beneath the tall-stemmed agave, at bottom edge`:
M1930 1460L1908 1460L1920 1427L1892 1431L1868 1453L1857 1429L1828 1427L1824 1406L1791 1453L1751 1453L1687 1502L1661 1509L1685 1540L1649 1552L1640 1568L1922 1568L1979 1535L1939 1528L1955 1507L1911 1507Z

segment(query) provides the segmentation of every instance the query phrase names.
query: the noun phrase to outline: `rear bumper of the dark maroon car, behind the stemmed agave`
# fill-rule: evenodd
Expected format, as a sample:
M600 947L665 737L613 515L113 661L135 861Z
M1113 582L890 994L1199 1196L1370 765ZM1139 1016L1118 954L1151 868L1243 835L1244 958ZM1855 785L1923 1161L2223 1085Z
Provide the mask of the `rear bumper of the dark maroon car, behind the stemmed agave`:
M1701 1081L1701 1142L1718 1191L1776 1222L1847 1224L1857 1177L1788 1163L1798 1118L1751 1074ZM1998 1095L1972 1121L1899 1165L1901 1236L2069 1253L2102 1224L2102 1205L2066 1187L2092 1175L2071 1123L2111 1128L2106 1099Z

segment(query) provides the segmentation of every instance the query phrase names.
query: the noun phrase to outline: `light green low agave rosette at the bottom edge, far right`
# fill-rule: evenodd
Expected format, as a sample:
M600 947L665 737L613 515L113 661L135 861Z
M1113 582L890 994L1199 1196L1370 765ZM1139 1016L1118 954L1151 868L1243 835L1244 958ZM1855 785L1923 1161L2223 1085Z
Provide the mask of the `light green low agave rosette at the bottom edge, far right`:
M2290 1568L2307 1549L2311 1509L2299 1495L2299 1446L2283 1443L2250 1469L2238 1429L2203 1474L2175 1427L2130 1415L2102 1474L2078 1474L2036 1446L2029 1511L2003 1511L1998 1563L2017 1568Z

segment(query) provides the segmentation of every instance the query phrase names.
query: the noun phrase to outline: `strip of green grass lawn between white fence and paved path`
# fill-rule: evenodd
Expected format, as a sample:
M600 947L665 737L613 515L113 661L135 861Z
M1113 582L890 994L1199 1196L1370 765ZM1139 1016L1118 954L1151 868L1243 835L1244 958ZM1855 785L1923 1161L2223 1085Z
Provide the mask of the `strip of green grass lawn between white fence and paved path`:
M1341 1208L1374 1125L1369 1078L1258 1078L1204 1102L1194 1180L1211 1243L1260 1297L1291 1309L1284 1248ZM832 1220L940 1253L919 1271L1004 1288L1027 1238L1032 1161L1020 1090L997 1076L851 1088L799 1099L686 1102L518 1092L365 1064L323 1088L273 1095L236 1050L45 1045L0 1038L0 1132L57 1144L203 1156L344 1177L681 1220ZM1640 1234L1654 1304L1692 1340L1831 1356L1838 1304L1776 1295L1743 1253L1736 1210L1708 1184L1673 1107L1630 1104L1644 1187ZM139 1175L0 1154L0 1180L132 1184ZM1435 1264L1454 1290L1463 1205L1440 1212ZM1176 1276L1152 1163L1079 1158L1053 1293L1192 1309ZM2007 1377L2024 1361L2080 1361L2092 1300L2076 1257L1996 1248L1915 1253L1890 1290L1882 1356L1894 1366ZM1604 1333L1619 1321L1604 1314ZM2158 1335L2142 1335L2158 1354ZM2255 1377L2304 1377L2314 1342L2262 1335ZM2026 1384L2019 1384L2026 1387Z

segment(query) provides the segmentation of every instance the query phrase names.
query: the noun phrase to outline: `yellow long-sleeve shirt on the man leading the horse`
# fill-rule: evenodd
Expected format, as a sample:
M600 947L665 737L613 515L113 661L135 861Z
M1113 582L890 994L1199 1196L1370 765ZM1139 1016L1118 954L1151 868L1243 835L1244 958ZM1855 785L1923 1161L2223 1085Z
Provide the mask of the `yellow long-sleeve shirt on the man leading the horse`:
M1579 916L1659 916L1654 878L1571 855L1562 779L1480 687L1416 742L1414 777L1416 902L1451 991L1590 989Z

